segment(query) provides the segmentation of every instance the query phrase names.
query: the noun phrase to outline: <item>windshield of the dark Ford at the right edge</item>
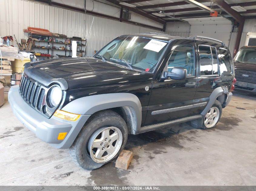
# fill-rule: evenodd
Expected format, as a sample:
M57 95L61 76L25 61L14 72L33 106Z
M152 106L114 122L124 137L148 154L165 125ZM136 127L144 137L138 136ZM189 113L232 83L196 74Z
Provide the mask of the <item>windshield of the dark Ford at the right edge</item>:
M256 64L256 48L255 49L251 49L251 48L241 49L237 53L234 61Z

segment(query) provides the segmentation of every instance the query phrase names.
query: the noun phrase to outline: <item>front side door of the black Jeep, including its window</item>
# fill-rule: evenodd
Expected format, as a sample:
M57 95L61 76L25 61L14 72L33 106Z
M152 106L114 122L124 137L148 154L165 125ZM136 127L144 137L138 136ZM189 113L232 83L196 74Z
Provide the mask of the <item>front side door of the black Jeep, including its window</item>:
M195 77L194 44L178 45L172 50L165 71L175 66L187 69L183 80L158 79L153 81L145 126L191 116L197 84Z

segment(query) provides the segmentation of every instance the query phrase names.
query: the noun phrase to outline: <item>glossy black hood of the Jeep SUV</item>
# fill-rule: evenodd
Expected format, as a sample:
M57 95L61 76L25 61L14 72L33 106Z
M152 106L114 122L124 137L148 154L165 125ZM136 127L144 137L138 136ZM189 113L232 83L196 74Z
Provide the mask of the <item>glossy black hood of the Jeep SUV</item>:
M41 78L35 79L36 81L44 81L42 77L48 81L65 81L68 89L146 81L152 80L153 77L151 73L130 70L124 66L91 57L51 59L30 65L37 75L41 75Z

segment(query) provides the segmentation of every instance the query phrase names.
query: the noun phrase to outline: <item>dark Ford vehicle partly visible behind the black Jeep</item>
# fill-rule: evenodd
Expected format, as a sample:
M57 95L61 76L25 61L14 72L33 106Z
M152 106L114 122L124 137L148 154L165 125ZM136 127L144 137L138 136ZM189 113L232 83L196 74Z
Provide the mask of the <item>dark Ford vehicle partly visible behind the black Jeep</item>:
M235 90L256 94L256 46L243 46L234 58Z

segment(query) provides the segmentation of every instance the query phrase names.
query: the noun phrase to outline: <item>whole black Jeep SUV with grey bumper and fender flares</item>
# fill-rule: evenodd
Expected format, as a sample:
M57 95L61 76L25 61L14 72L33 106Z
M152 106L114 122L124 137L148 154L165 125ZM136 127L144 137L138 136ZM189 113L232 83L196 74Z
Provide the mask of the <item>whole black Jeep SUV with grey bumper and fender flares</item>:
M188 121L214 127L232 96L233 65L216 39L124 35L93 57L26 63L8 97L38 138L95 169L118 156L128 134Z

